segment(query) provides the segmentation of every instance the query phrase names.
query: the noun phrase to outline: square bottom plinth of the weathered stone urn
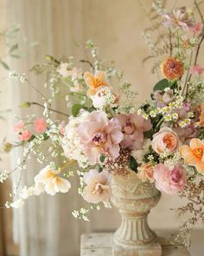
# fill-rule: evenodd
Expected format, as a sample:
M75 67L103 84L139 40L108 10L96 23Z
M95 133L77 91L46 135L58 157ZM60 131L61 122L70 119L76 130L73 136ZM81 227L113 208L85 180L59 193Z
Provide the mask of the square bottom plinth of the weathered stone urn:
M162 256L162 254L162 246L157 242L137 248L124 248L112 242L112 256Z

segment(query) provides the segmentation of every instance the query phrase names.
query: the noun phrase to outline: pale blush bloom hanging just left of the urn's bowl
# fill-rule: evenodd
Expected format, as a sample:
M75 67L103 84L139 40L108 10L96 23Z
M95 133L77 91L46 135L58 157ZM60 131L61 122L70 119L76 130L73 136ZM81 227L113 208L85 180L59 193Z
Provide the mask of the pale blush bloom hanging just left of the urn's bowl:
M110 187L111 174L106 171L99 173L98 170L89 170L84 175L86 187L83 197L89 203L97 204L100 201L109 200L112 193Z

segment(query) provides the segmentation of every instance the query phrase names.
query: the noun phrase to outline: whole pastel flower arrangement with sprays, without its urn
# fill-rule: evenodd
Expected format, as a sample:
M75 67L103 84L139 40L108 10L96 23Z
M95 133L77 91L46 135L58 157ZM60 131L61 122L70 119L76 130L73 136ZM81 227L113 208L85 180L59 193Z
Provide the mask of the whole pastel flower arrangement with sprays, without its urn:
M204 221L204 68L198 64L204 20L196 1L194 7L201 23L196 22L193 11L180 8L168 12L160 1L153 2L152 11L159 20L154 30L161 29L162 34L152 43L150 31L154 30L144 31L151 52L146 60L158 59L153 72L159 68L163 79L143 104L138 104L137 93L124 82L123 73L99 59L92 41L86 43L90 60L80 60L80 68L73 57L56 60L53 56L33 67L35 74L46 76L49 98L26 75L10 73L35 89L43 102L23 102L21 107L36 105L43 113L16 123L16 142L6 142L3 148L10 152L21 146L23 157L14 170L0 174L0 181L16 170L23 173L32 155L42 168L29 187L22 191L16 187L5 207L21 207L33 195L67 193L69 177L78 174L79 193L88 204L74 210L73 216L88 220L89 210L99 210L100 202L110 207L112 175L133 170L141 181L155 182L164 193L188 199L186 206L177 209L192 215L182 224L183 239L189 226ZM88 66L87 71L84 67ZM59 96L67 103L64 112L53 108L54 98ZM55 112L65 118L56 119ZM44 144L48 145L47 154L41 150Z

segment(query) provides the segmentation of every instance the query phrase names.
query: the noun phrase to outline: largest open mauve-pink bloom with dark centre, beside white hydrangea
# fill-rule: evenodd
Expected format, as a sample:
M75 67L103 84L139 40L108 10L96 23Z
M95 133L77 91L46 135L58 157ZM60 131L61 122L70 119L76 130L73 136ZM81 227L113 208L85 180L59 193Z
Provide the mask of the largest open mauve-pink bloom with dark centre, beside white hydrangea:
M118 157L119 143L124 137L118 120L108 121L104 112L93 111L88 120L80 124L78 133L90 164L99 162L101 154L107 154L112 161Z

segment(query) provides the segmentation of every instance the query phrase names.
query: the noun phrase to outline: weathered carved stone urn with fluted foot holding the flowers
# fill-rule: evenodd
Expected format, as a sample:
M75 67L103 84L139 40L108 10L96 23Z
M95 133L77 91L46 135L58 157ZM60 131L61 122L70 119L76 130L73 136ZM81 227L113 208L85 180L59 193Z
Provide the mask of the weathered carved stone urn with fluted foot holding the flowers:
M156 242L154 233L147 222L150 209L160 199L160 192L154 183L142 182L137 174L113 175L112 203L122 217L121 225L113 235L113 255L159 256L162 247Z

